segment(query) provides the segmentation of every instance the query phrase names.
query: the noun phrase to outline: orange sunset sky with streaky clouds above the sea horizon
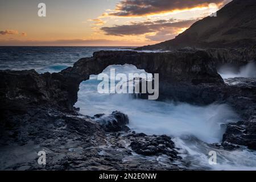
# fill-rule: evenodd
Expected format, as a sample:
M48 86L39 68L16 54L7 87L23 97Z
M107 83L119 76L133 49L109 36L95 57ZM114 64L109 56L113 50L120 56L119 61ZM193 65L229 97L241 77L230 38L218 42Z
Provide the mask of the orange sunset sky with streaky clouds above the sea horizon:
M155 44L230 1L0 0L0 46ZM46 16L38 16L39 3L46 5Z

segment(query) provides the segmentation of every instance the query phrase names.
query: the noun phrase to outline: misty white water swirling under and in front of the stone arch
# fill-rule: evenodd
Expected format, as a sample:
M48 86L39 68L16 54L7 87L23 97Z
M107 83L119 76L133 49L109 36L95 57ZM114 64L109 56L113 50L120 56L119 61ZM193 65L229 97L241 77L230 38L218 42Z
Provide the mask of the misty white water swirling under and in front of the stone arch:
M102 73L110 76L110 70L113 68L116 73L126 75L146 73L131 64L111 65ZM195 106L167 100L137 99L132 94L98 93L97 86L100 82L97 75L91 75L89 80L81 82L75 107L80 108L81 114L89 116L121 111L128 115L129 127L140 133L167 134L175 137L189 134L204 142L214 143L221 142L225 132L225 126L221 127L221 123L236 121L237 115L227 105Z

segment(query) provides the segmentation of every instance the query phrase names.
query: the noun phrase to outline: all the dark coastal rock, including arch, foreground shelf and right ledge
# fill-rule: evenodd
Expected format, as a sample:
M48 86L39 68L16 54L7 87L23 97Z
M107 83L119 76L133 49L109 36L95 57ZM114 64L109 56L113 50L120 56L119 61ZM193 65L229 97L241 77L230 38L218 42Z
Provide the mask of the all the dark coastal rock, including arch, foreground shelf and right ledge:
M113 64L133 64L159 73L159 100L229 104L241 121L227 126L219 147L256 150L256 80L224 81L217 73L219 64L237 64L243 56L242 65L255 58L253 53L234 52L100 51L59 73L0 71L0 169L186 169L184 163L177 164L182 158L171 137L130 131L125 113L88 117L73 107L80 83ZM42 150L47 153L46 166L37 163L37 152Z

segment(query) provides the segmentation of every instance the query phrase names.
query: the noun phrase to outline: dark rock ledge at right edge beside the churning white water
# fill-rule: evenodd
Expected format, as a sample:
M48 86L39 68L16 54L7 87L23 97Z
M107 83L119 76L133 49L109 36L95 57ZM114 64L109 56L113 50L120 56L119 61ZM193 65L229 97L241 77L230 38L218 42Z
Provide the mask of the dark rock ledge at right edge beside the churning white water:
M229 78L225 82L230 93L226 102L243 120L227 126L222 145L238 144L256 150L256 78Z

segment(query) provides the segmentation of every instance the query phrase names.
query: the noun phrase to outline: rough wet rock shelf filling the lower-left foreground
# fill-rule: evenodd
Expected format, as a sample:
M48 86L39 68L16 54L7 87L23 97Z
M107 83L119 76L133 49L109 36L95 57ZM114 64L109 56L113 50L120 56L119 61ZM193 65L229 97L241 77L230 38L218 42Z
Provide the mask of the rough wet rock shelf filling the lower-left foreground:
M167 166L134 158L131 149L122 145L130 137L106 133L100 123L77 113L31 107L27 114L15 112L5 121L0 127L1 170L180 169L171 162ZM42 150L46 151L46 165L38 164ZM123 162L124 158L130 160Z

